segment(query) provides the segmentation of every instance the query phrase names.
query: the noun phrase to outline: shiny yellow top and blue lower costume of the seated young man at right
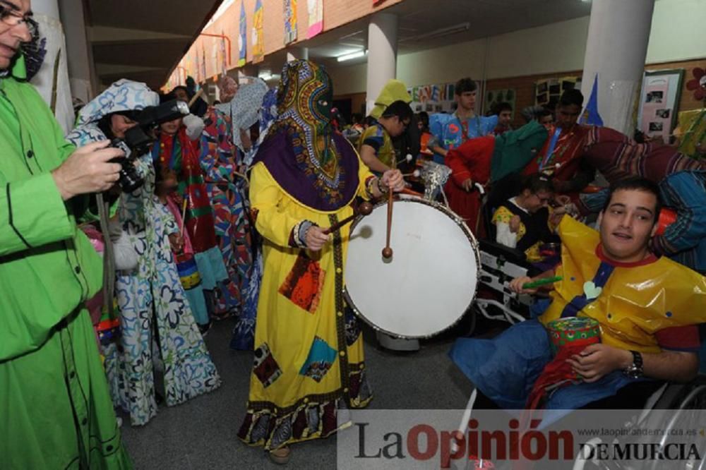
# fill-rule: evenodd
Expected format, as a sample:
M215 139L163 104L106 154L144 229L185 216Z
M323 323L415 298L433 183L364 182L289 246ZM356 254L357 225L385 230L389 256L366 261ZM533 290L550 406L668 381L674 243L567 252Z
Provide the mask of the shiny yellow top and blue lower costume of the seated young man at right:
M563 280L555 284L551 304L539 319L517 323L493 339L458 339L450 351L474 385L506 409L525 407L534 382L551 363L545 325L557 318L593 318L602 342L621 349L658 353L699 348L695 325L706 322L704 277L652 255L638 263L610 260L598 232L570 217L563 217L559 235L562 264L556 274ZM620 370L592 383L563 379L571 383L556 388L544 402L546 408L580 408L636 380Z

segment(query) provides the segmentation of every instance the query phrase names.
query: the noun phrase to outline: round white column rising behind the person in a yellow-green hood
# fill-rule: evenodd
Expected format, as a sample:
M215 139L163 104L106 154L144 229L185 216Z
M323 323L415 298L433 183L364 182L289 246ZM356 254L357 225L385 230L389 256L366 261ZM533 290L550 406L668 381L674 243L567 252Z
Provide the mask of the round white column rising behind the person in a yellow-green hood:
M397 16L375 13L368 26L368 80L366 113L388 80L397 76Z

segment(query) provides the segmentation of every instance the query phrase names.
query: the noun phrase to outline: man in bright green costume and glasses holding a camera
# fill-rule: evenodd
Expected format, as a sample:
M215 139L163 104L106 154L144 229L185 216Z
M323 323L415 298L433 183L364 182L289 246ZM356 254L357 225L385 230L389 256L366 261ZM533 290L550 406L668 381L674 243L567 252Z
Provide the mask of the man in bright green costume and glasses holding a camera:
M130 469L85 308L102 261L76 227L123 152L64 139L25 80L36 35L29 0L0 0L0 468Z

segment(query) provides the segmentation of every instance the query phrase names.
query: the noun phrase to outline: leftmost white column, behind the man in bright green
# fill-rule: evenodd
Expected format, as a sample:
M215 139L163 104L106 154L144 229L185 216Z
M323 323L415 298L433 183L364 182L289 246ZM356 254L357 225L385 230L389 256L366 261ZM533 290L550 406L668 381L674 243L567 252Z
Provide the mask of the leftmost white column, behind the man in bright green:
M56 120L64 133L73 128L73 104L68 83L68 53L64 38L64 27L59 19L57 0L35 0L32 2L35 20L40 25L40 35L46 38L47 54L39 73L32 78L44 101L52 107ZM57 64L58 61L58 64Z

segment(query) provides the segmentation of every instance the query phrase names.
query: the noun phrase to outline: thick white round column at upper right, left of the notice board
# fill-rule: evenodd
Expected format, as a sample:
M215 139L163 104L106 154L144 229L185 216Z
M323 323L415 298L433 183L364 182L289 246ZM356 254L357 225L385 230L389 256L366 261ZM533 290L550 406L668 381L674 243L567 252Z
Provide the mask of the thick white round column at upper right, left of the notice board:
M642 86L654 0L593 0L581 92L584 106L598 76L598 112L604 126L627 135Z

